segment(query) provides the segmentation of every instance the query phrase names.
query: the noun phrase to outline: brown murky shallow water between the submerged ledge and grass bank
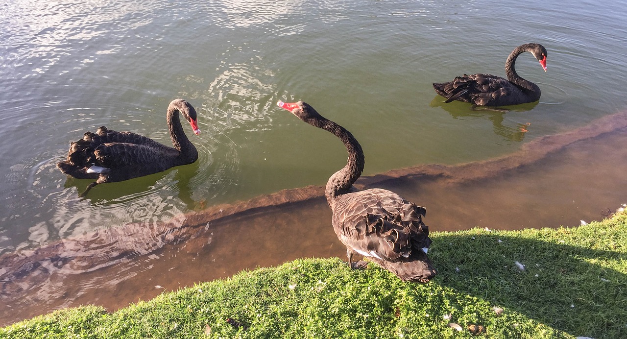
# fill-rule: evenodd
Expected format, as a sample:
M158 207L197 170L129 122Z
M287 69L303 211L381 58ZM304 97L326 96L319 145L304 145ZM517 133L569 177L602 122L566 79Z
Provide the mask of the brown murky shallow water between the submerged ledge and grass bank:
M516 154L361 178L426 206L431 231L576 226L627 202L627 113ZM116 310L162 291L302 257L344 256L321 187L129 224L0 257L0 323L83 304ZM437 267L437 263L434 263Z

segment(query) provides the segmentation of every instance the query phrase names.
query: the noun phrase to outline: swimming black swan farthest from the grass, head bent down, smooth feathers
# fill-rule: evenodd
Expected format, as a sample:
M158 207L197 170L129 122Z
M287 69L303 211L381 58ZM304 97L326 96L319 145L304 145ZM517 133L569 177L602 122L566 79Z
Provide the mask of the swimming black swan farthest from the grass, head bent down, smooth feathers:
M433 83L433 88L446 98L446 103L458 100L477 106L508 106L537 102L540 99L540 88L521 78L514 70L516 58L525 51L534 55L544 71L547 71L547 50L544 46L537 43L521 44L505 61L505 74L509 80L477 73L457 76L453 81L445 83Z

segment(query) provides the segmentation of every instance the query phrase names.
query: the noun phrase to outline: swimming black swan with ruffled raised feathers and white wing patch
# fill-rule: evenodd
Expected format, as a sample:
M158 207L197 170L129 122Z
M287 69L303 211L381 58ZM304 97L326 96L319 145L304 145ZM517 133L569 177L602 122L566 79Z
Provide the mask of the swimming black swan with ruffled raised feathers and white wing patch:
M102 126L96 133L85 132L81 140L72 142L67 160L56 167L77 179L97 179L81 194L85 196L92 187L103 182L133 179L191 164L198 159L198 151L183 132L179 112L194 134L199 135L196 110L185 100L175 99L167 107L167 127L174 147L143 135L116 132Z

